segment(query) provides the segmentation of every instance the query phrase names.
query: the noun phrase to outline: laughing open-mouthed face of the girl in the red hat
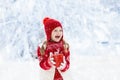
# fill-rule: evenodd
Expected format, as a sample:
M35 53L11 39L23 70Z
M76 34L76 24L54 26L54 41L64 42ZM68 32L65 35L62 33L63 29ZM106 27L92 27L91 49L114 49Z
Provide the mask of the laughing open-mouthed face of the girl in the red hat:
M55 42L59 42L63 36L63 30L61 27L56 27L51 34L51 39Z

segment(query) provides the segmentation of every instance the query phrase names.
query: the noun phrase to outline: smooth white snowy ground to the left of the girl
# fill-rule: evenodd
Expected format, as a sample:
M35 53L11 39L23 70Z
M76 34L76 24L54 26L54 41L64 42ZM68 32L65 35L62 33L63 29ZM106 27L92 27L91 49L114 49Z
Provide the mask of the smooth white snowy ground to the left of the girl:
M0 66L1 80L39 80L36 62L6 62Z

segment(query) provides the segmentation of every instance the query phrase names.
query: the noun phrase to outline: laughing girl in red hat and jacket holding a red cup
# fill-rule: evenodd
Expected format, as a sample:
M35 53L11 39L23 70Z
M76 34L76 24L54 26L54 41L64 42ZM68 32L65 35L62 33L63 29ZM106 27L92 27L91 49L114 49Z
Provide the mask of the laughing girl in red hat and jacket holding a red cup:
M63 73L70 66L69 45L63 40L63 28L59 21L44 18L44 29L47 40L38 46L39 65L43 69L43 80L63 80Z

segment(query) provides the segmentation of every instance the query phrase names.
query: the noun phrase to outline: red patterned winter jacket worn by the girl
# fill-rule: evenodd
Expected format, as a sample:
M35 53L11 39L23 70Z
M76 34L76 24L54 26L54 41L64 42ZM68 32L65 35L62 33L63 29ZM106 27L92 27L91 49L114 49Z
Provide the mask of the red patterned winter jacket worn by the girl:
M69 50L67 52L65 52L63 45L64 45L63 41L47 42L47 47L45 49L44 55L41 55L40 47L38 46L37 56L38 56L39 61L40 61L39 65L42 69L49 70L52 67L51 63L49 62L50 52L52 52L53 54L55 54L55 52L59 52L60 54L64 55L66 65L65 65L65 68L61 70L62 72L66 71L69 68L69 66L70 66L70 59L69 59L70 52L69 52Z

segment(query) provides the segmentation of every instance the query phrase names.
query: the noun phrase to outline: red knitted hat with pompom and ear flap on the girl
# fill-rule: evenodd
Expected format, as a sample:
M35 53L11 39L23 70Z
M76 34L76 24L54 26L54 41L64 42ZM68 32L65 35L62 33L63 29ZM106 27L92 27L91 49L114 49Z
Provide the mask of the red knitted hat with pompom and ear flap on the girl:
M43 24L44 24L45 33L47 36L47 41L51 39L51 33L53 29L55 29L58 26L62 28L62 25L59 21L55 19L51 19L49 17L45 17L43 19Z

